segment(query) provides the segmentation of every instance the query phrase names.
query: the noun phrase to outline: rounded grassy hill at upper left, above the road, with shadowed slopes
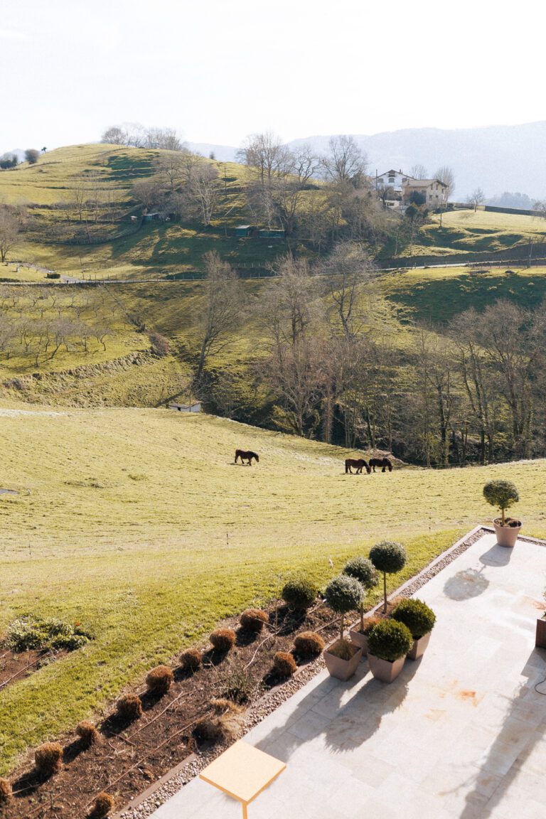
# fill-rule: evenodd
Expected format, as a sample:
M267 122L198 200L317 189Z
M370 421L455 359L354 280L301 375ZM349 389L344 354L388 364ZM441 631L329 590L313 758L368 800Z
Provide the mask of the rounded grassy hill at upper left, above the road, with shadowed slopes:
M137 230L138 225L129 219L131 214L140 213L133 200L133 183L150 179L156 173L154 163L165 153L115 145L74 145L40 156L36 165L25 163L2 171L0 202L26 206L29 214L28 231L22 234L11 258L78 278L134 278L200 270L201 256L211 249L233 263L260 267L286 251L283 241L228 235L235 225L248 221L241 194L247 170L229 162L210 162L218 170L223 192L209 229L201 230L195 224L145 224ZM82 184L87 191L84 196L97 196L101 209L112 215L111 223L105 214L101 217L106 219L102 224L106 241L91 246L52 242L55 227L66 219L73 233L83 230L74 212L74 199ZM3 272L0 269L0 276ZM11 277L13 265L6 272Z

